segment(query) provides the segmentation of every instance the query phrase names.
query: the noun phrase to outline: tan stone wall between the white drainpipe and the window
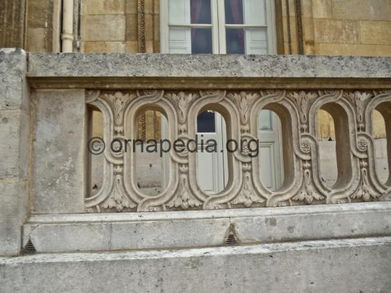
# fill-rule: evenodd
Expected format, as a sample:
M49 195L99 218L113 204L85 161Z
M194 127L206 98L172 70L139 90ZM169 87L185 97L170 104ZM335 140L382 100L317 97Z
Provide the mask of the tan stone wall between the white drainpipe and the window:
M82 0L81 52L158 52L158 0Z

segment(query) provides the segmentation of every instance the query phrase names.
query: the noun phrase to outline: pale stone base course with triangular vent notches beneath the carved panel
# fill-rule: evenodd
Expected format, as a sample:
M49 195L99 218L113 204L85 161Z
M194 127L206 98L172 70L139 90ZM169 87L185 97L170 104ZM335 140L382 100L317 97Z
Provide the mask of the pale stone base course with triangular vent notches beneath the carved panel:
M391 236L391 202L137 214L35 215L24 225L37 252L156 249Z

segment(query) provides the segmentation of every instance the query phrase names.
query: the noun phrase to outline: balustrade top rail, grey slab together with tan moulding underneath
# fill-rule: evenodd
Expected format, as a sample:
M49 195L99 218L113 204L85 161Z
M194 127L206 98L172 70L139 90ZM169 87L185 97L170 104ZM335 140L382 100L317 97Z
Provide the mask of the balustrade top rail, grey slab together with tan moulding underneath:
M28 53L33 88L390 88L390 57Z

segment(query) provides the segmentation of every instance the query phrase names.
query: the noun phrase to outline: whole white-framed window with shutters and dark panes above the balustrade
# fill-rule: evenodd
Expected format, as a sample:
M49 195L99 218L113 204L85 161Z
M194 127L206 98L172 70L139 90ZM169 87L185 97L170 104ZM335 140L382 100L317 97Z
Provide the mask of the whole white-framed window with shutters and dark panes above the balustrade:
M272 0L161 0L161 52L275 54Z

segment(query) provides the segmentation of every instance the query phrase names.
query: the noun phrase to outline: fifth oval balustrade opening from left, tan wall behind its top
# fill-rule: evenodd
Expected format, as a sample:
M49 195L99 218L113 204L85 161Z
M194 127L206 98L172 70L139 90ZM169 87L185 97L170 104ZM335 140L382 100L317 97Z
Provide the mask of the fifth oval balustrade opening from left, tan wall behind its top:
M342 106L328 103L317 113L320 180L332 188L347 185L352 177L349 120Z

